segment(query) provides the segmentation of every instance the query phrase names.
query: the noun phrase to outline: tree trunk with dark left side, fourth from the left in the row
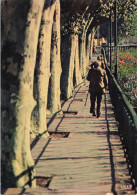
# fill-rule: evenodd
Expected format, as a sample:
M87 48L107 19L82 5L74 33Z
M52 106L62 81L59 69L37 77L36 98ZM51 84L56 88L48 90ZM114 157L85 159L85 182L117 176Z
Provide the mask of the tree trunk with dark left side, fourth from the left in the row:
M70 98L72 96L73 91L75 38L76 36L72 34L65 36L62 40L61 92L63 99Z

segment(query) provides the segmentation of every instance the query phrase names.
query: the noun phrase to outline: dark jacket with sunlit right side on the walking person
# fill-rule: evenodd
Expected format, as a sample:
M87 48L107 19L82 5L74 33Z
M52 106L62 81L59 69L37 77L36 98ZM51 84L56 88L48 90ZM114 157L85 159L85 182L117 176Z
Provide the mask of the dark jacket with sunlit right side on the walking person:
M100 66L92 66L89 70L87 80L90 81L89 92L91 93L104 93L108 85L108 78L106 71Z

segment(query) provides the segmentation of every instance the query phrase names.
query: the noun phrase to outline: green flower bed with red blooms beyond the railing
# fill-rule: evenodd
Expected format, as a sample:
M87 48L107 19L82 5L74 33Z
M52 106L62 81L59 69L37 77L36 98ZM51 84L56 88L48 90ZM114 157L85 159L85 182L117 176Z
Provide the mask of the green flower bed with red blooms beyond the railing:
M118 52L119 84L133 107L137 107L137 51Z

